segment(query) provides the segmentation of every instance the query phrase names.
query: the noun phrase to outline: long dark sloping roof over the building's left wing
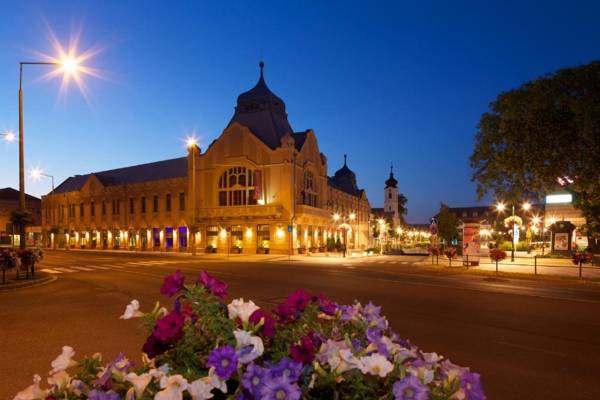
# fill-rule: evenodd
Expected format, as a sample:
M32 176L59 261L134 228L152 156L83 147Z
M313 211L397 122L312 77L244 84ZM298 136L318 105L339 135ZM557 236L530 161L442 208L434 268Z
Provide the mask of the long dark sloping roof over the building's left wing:
M111 169L108 171L92 172L86 175L75 175L67 178L56 189L55 193L65 193L80 190L90 176L96 176L105 186L127 185L133 183L151 182L187 176L187 157L156 161L148 164Z

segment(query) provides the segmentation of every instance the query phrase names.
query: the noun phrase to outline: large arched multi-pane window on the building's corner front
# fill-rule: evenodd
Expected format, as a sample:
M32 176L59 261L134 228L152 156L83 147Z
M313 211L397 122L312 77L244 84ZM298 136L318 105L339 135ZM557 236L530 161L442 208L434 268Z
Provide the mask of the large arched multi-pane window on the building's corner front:
M254 174L246 167L229 168L219 178L219 206L255 205Z

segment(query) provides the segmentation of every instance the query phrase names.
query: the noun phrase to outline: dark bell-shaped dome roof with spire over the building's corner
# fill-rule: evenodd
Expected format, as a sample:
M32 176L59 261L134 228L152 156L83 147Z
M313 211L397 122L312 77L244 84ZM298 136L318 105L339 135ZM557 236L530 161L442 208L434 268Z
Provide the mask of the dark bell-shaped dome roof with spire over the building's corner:
M286 133L293 133L287 119L285 103L267 86L261 61L260 77L256 85L240 94L237 98L235 112L227 127L233 122L246 126L263 143L272 149L281 145L281 138Z

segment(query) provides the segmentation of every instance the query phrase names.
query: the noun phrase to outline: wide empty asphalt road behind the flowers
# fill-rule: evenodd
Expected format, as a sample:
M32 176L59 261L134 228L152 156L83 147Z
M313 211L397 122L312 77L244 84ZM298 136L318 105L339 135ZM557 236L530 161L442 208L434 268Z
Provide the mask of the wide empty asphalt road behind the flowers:
M229 284L229 297L272 307L303 287L338 302L373 300L401 336L480 372L489 399L600 399L600 286L494 279L424 270L416 258L338 262L191 259L48 252L40 268L58 280L0 291L0 399L42 376L61 346L105 360L137 360L146 332L119 320L133 298L154 306L164 275L201 269ZM167 302L162 298L161 301Z

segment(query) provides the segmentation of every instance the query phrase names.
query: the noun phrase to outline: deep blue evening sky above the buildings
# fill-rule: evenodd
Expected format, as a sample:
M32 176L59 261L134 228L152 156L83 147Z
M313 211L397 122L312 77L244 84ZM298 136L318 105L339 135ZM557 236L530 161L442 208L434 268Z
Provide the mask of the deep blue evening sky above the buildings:
M416 3L419 3L418 5ZM0 15L0 129L18 128L18 62L82 27L82 49L107 80L89 102L60 80L25 83L26 168L66 177L185 154L229 121L265 60L296 131L312 128L329 174L348 154L381 206L390 162L409 222L441 201L475 205L468 157L496 95L560 67L600 58L600 3L14 1ZM485 4L484 4L485 3ZM594 4L595 3L595 4ZM18 187L17 145L0 144L0 187ZM27 181L40 195L50 181Z

